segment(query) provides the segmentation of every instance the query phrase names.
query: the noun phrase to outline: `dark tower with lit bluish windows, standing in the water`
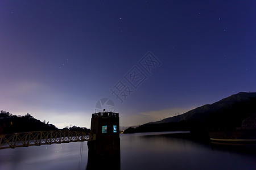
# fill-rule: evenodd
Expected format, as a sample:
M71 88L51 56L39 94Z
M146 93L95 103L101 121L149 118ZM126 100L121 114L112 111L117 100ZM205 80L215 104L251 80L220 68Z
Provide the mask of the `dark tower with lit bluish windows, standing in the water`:
M95 166L118 169L120 166L119 113L98 112L92 114L88 141L88 169ZM101 163L95 162L101 160Z

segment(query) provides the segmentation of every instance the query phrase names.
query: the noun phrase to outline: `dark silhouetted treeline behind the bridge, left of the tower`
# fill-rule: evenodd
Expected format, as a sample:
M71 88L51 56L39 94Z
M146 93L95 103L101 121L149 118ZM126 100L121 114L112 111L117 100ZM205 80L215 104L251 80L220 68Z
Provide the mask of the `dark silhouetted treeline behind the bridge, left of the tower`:
M13 134L27 131L72 130L89 132L90 129L73 126L71 128L58 129L55 125L41 122L31 114L16 116L10 112L0 111L0 134Z

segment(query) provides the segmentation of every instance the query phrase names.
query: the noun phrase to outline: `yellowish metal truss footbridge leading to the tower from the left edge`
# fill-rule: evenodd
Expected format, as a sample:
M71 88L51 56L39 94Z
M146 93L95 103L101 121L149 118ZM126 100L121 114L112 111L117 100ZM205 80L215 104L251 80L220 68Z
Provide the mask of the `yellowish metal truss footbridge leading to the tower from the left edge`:
M52 143L69 143L89 141L90 133L82 131L31 131L26 133L0 135L0 149L51 145Z

